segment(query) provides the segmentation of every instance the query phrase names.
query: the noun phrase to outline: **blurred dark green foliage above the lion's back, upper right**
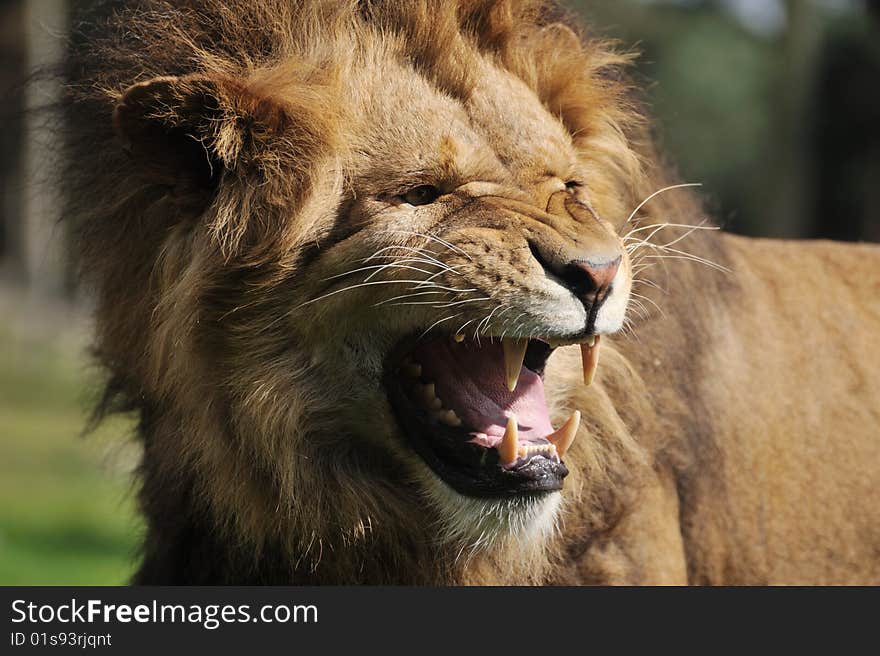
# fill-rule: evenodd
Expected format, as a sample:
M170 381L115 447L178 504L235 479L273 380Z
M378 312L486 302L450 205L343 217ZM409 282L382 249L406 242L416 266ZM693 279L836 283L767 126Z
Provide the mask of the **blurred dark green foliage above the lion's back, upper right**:
M753 236L878 238L878 14L794 0L779 29L756 31L722 0L569 4L641 53L661 151L702 183L713 220Z

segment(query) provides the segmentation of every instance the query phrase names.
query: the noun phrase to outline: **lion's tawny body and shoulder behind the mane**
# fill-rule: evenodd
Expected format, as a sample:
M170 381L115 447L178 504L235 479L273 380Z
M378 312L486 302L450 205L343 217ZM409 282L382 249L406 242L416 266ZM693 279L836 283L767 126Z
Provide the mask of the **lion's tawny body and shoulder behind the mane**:
M665 317L620 346L663 390L646 426L660 464L581 573L877 582L880 248L720 239L733 272L721 288L672 277Z

